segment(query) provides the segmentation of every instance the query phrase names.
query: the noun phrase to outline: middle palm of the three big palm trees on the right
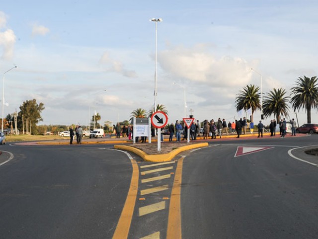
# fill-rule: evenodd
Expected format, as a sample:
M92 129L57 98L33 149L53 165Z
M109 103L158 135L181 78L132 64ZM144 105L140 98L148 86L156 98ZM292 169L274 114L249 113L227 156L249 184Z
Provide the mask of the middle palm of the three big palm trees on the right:
M280 121L280 116L288 116L289 112L289 96L285 96L286 91L282 88L273 89L264 97L263 114L267 118L274 114L277 122Z

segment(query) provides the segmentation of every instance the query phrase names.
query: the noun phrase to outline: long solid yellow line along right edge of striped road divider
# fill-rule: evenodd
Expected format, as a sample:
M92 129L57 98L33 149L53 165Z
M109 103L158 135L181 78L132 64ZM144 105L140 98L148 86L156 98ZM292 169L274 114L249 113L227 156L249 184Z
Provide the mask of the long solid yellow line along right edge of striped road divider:
M182 181L182 166L184 157L180 158L175 170L174 182L171 191L167 238L181 239L181 181Z

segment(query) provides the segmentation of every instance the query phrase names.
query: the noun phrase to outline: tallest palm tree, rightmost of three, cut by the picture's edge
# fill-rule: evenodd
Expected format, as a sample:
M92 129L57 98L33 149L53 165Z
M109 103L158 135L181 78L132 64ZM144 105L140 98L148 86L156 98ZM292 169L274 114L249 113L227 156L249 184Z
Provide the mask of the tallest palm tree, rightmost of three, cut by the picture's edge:
M299 77L296 81L296 86L291 88L292 94L294 95L290 100L292 103L293 110L298 111L305 108L307 112L307 123L312 122L311 110L312 108L318 107L318 78L314 76Z

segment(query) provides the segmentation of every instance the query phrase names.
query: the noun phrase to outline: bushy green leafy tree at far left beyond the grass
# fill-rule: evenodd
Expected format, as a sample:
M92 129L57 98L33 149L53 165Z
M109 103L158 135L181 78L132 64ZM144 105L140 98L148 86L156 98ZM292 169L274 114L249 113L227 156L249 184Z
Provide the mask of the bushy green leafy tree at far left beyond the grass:
M33 132L34 134L37 133L37 123L39 121L43 121L41 117L41 112L45 109L44 104L40 103L37 104L36 100L29 100L23 102L23 104L20 106L20 112L18 113L18 127L21 130L22 129L22 117L23 121L26 125L25 129L26 132L30 133Z

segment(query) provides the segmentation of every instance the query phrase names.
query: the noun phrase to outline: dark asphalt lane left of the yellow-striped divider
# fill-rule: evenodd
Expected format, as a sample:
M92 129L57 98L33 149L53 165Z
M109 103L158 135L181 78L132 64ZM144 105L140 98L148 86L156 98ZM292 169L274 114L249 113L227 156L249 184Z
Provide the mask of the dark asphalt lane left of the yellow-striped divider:
M111 238L132 167L100 148L1 145L14 158L0 166L0 238Z

